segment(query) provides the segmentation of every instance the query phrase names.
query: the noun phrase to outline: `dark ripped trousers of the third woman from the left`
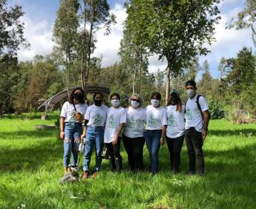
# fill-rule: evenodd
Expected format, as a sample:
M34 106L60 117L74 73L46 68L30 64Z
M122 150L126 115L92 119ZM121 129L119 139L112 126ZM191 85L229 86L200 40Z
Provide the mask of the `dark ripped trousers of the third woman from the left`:
M109 155L111 169L118 171L122 169L122 156L120 155L120 142L121 137L118 138L117 144L114 146L112 143L105 143L107 146L107 153Z

